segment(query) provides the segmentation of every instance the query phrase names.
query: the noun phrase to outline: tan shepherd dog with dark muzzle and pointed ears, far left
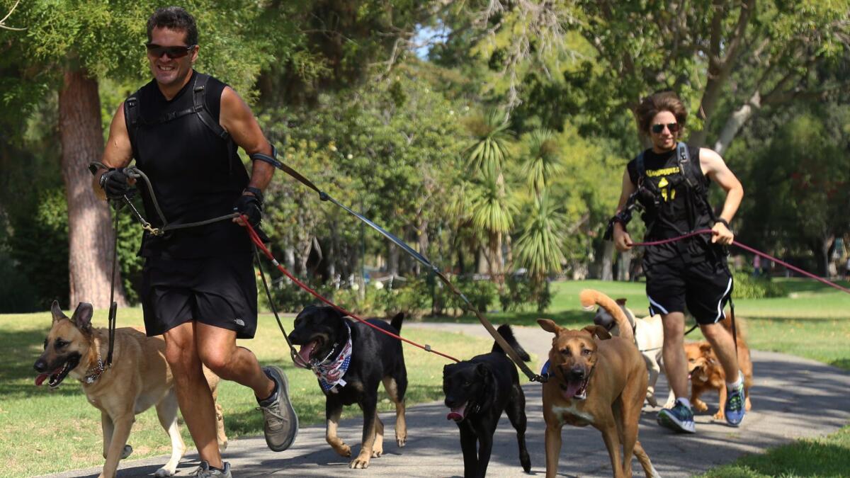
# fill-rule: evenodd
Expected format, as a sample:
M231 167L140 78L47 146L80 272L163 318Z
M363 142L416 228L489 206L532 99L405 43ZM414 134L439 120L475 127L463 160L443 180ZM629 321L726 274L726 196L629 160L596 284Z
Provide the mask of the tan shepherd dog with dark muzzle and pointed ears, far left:
M165 360L165 340L146 337L132 327L118 328L112 367L104 369L109 332L105 328L92 327L92 305L81 302L70 319L56 301L51 311L53 327L44 339L44 353L34 365L39 373L36 384L47 380L50 388L56 388L70 375L80 381L88 402L100 410L106 458L100 477L115 476L118 461L133 452L133 447L127 445L127 437L135 415L152 405L156 406L156 416L171 438L172 447L171 459L156 470L156 476L174 475L186 446L177 426L177 395L171 369ZM215 399L218 377L206 367L204 374ZM216 411L218 449L224 451L227 436L218 402Z

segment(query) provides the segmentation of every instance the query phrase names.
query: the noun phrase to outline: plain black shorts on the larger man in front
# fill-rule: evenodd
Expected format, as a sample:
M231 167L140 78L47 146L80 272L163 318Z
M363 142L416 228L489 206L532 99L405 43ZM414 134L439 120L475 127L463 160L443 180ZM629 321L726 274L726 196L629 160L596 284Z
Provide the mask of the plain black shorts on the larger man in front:
M237 339L257 332L257 282L253 256L202 259L147 258L141 299L148 337L190 321L236 331Z

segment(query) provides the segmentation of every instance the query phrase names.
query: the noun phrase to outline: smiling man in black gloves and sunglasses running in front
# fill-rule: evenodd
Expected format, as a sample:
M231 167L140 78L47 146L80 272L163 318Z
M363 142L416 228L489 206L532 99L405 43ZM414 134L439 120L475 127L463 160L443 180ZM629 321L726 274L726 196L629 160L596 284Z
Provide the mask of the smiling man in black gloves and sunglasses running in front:
M262 191L274 168L254 162L249 177L236 153L272 154L258 122L235 91L192 65L198 56L195 20L184 9L158 9L147 24L147 58L154 79L118 107L103 163L95 174L99 196L127 192L123 171L135 158L149 178L168 224L189 224L233 211L258 225ZM201 94L201 96L198 96ZM203 98L202 108L195 107ZM212 119L211 119L212 118ZM147 218L161 220L146 187L139 188ZM278 367L260 367L236 339L257 327L252 248L241 219L144 233L139 255L144 326L164 335L180 410L201 455L201 476L230 476L218 452L216 410L201 365L253 390L265 417L269 447L282 451L297 435L297 416Z

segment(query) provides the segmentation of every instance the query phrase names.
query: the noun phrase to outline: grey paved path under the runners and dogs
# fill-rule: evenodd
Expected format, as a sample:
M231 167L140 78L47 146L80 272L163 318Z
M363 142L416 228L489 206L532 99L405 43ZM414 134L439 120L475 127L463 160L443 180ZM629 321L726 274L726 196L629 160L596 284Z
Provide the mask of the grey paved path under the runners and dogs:
M489 337L477 324L411 324L407 327L439 327L477 337ZM514 333L525 350L541 360L547 356L552 335L536 327L515 327ZM771 352L753 351L755 368L751 413L740 429L712 423L711 414L697 416L696 435L673 435L655 424L657 409L644 408L640 422L640 441L662 476L690 476L725 464L747 452L761 452L796 438L826 435L850 420L850 373L817 361ZM536 364L539 367L540 364ZM520 377L522 375L520 374ZM541 386L524 386L529 418L528 440L532 475L546 471L543 452ZM664 378L659 379L659 396L666 397ZM805 407L798 404L804 400ZM710 412L717 410L717 395L706 395ZM712 410L711 407L714 407ZM817 411L808 416L806 411ZM234 475L248 476L462 476L463 460L457 428L446 422L447 409L440 402L410 407L407 412L409 440L398 448L392 440L394 414L382 414L388 440L382 458L373 458L367 470L349 470L348 459L337 456L327 446L324 426L303 428L295 445L286 452L269 452L263 437L229 442L225 458ZM226 419L226 418L225 418ZM360 440L362 420L345 420L340 436L354 446ZM132 435L131 435L132 438ZM165 438L163 436L163 438ZM179 476L189 475L197 465L197 455L184 458ZM119 477L150 476L167 457L122 462ZM633 462L640 472L637 460ZM494 441L490 476L527 476L519 466L513 428L504 416ZM610 476L608 452L602 437L592 427L564 427L564 447L559 467L561 476ZM55 478L96 477L99 468L82 469L51 475Z

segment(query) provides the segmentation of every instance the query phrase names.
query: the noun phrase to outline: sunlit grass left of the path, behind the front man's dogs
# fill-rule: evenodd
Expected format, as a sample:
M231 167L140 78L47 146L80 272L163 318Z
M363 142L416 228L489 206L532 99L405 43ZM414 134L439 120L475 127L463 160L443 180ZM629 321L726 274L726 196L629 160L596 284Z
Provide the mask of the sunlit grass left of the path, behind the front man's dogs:
M98 310L94 325L106 323L106 311ZM42 343L51 323L48 313L0 316L0 348L5 350L0 367L0 463L4 476L29 476L54 473L66 469L101 466L102 438L100 413L88 404L76 380L67 378L58 390L36 387L32 364L42 352ZM120 327L142 324L141 310L121 309ZM292 319L284 319L291 328ZM454 356L469 357L490 350L492 342L456 333L403 329L406 338L433 344ZM263 364L283 367L290 382L292 401L301 424L320 424L325 420L325 398L312 373L292 366L286 342L280 335L273 316L262 316L257 338L240 341L258 356ZM442 397L442 357L428 354L405 344L405 361L410 385L408 404L439 400ZM262 415L251 390L223 381L219 402L224 407L224 424L229 439L263 433ZM379 396L381 411L394 410L383 393ZM357 407L346 407L343 418L360 415ZM185 426L184 441L191 447ZM133 424L129 443L132 458L144 458L171 452L168 437L150 410L139 414Z

